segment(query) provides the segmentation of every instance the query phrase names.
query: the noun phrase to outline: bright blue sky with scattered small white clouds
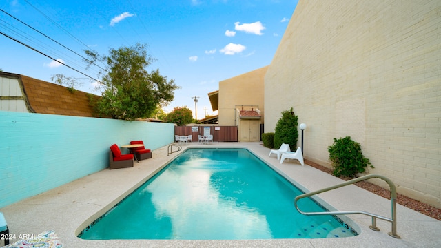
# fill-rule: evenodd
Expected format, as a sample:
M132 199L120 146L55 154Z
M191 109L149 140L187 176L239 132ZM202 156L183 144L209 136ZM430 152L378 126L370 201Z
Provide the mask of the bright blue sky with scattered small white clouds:
M192 97L198 96L201 119L217 114L207 93L218 90L219 81L271 63L296 4L293 0L3 0L0 32L94 79L99 79L97 70L86 70L77 55L84 56L83 50L108 54L110 48L147 44L156 59L147 70L159 69L181 87L165 111L187 106L194 114ZM0 50L4 72L44 81L51 81L54 74L85 78L3 34ZM93 81L82 81L79 90L99 94Z

